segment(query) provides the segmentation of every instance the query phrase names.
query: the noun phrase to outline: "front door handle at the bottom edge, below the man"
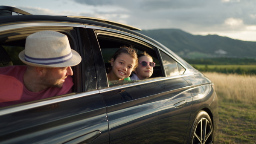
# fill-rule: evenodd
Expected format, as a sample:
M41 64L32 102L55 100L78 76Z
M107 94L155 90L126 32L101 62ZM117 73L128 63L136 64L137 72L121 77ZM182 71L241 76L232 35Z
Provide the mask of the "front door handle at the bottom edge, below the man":
M95 140L101 132L99 130L96 130L94 132L87 133L86 135L79 136L75 139L72 139L71 141L67 141L63 144L86 144L93 140Z

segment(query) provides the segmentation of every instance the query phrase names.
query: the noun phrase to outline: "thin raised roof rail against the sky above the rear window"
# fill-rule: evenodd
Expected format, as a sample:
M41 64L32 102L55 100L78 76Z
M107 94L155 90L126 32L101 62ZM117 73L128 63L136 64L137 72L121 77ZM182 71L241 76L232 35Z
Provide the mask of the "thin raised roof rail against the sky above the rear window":
M102 23L108 23L108 24L111 24L111 25L114 25L114 26L120 26L120 27L125 28L125 29L141 31L141 29L139 29L137 27L130 26L130 25L123 24L123 23L119 23L119 22L115 22L115 21L112 21L112 20L105 20L105 19L102 19L102 18L83 17L83 16L67 16L67 17L74 17L74 18L81 18L81 19L86 19L86 20L93 20L93 21L98 21L98 22L102 22Z

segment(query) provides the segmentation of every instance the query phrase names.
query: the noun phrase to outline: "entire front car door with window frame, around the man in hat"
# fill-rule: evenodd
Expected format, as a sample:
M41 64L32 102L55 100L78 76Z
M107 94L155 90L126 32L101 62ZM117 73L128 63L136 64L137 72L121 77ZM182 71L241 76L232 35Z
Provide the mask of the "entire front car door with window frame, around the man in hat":
M16 48L23 49L26 36L34 32L64 33L71 48L82 58L79 65L72 67L73 92L1 108L0 143L109 143L107 108L97 90L93 55L84 25L52 24L20 23L12 25L14 30L8 25L1 26L0 44L14 52Z

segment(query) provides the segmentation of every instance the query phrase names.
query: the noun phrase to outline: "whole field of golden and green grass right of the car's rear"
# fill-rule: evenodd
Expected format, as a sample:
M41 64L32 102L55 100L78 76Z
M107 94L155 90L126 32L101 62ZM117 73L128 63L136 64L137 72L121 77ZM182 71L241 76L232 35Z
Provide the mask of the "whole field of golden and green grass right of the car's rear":
M219 123L216 144L256 144L256 75L205 72L215 84Z

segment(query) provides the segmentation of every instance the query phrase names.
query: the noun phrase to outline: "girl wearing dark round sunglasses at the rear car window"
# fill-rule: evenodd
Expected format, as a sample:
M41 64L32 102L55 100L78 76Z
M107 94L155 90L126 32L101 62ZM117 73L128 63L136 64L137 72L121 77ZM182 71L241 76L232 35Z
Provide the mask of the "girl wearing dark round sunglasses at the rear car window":
M133 75L131 76L131 80L144 80L153 74L153 67L155 63L153 62L153 58L148 55L148 53L143 52L142 54L138 55L139 58L139 65L137 69L135 69Z

